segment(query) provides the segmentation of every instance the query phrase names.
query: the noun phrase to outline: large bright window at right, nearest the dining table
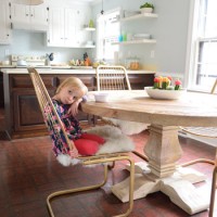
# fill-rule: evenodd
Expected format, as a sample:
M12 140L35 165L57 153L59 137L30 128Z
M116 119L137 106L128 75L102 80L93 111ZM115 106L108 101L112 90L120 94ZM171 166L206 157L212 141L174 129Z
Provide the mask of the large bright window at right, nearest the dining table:
M196 4L197 3L197 4ZM217 1L195 0L189 88L210 91L217 78Z

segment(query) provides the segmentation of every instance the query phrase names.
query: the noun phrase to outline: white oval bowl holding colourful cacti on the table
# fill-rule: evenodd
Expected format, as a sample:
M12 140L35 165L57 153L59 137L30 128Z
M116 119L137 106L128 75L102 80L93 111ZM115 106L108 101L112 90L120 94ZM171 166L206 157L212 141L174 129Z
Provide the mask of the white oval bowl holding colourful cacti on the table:
M156 100L178 100L186 93L186 89L180 90L162 90L153 87L144 87L150 98Z

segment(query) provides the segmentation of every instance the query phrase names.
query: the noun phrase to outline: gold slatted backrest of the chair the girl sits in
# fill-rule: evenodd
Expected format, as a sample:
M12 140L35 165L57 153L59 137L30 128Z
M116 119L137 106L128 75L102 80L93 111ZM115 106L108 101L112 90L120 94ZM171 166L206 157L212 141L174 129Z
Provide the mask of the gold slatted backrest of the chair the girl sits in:
M74 149L74 143L68 139L64 125L53 105L53 102L48 93L48 90L35 68L27 68L30 75L36 97L38 99L40 110L43 116L43 120L48 127L49 132L52 137L58 141L59 150L62 151L63 154Z

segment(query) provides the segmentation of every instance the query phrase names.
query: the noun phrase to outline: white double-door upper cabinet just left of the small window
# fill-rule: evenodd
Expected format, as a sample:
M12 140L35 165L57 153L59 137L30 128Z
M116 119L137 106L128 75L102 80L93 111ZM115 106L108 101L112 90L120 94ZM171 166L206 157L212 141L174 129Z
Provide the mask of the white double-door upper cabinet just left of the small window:
M90 17L88 5L50 7L47 46L85 48L91 37L85 29Z

